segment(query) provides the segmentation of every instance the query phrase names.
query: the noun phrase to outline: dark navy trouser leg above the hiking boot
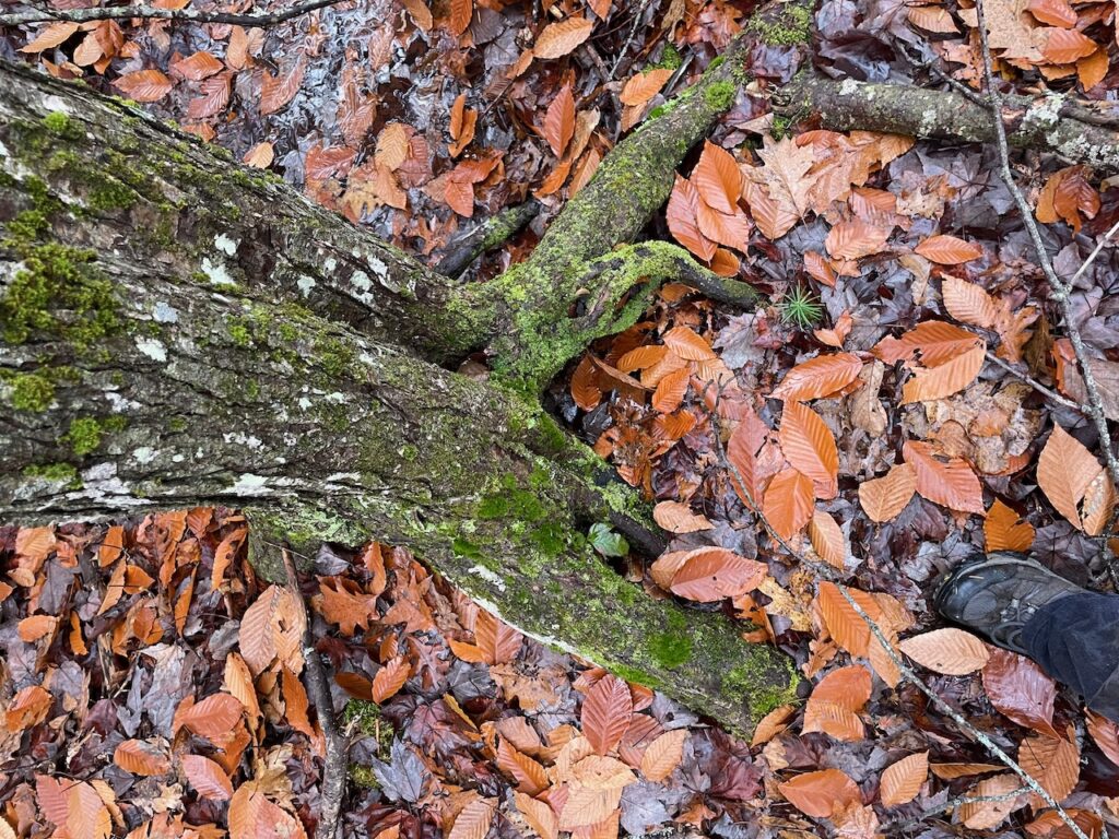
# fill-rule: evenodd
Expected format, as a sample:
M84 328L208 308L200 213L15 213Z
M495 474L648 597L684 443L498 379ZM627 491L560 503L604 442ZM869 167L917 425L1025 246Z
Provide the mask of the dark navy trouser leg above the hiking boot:
M1037 610L1022 631L1027 654L1119 723L1119 595L1071 594Z

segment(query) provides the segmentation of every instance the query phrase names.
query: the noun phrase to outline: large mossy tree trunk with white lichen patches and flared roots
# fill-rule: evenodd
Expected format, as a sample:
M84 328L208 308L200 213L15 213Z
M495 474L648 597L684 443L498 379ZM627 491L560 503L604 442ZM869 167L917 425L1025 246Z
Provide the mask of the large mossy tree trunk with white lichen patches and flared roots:
M784 657L594 554L590 525L640 534L645 511L520 387L566 360L527 361L546 332L495 350L516 387L438 366L525 327L514 303L544 294L544 273L464 294L122 103L0 74L0 520L237 506L273 578L269 545L377 538L528 634L740 732L792 697ZM698 136L717 104L700 101L667 129L697 114ZM664 183L686 150L674 141L648 175ZM611 242L643 220L628 224ZM741 295L673 246L613 256L589 241L549 275L557 299L577 276L595 302L564 311L568 355L639 315L647 294L614 305L634 286L684 276Z

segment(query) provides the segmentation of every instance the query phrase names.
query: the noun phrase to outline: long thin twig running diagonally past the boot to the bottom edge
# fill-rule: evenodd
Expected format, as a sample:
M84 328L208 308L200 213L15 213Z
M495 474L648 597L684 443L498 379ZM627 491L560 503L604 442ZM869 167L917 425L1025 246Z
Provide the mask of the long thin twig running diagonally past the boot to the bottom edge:
M761 508L754 502L753 497L750 493L750 490L746 488L745 481L742 480L742 475L739 473L739 470L734 466L733 463L730 463L730 460L725 456L725 453L723 452L722 441L720 441L718 439L718 421L716 418L717 407L718 404L716 402L715 411L713 411L711 415L712 425L715 428L716 452L718 453L720 460L728 465L733 479L737 481L739 488L742 491L743 497L754 508L759 521L761 521L765 530L769 531L769 534L778 540L781 547L783 547L787 552L789 552L789 554L799 563L801 563L808 568L811 568L814 572L817 573L818 576L834 577L834 572L831 568L827 568L820 565L819 563L809 559L801 552L793 548L786 539L781 538L779 535L774 532L773 527L765 519L765 516L764 513L762 513ZM822 574L821 572L826 572L826 574ZM924 694L932 701L932 704L938 708L940 708L944 714L947 714L952 719L952 722L956 723L956 725L958 725L961 729L963 729L969 735L975 737L976 741L982 744L982 746L994 757L996 757L1007 769L1014 772L1014 774L1021 777L1022 782L1029 788L1031 792L1038 795L1046 804L1049 804L1051 808L1053 808L1054 811L1056 811L1057 816L1065 824L1069 826L1069 829L1072 831L1073 836L1076 837L1076 839L1089 839L1084 835L1084 832L1080 829L1080 827L1072 820L1072 817L1069 816L1069 813L1061 807L1061 804L1057 803L1053 799L1053 796L1050 795L1050 793L1046 792L1046 790L1028 772L1022 769L1022 766L1018 765L1018 763L1013 757L1010 757L1010 755L1004 752L998 746L997 743L995 743L990 737L988 737L986 734L984 734L974 725L971 725L971 723L969 723L958 710L956 710L944 699L938 696L928 685L925 685L921 680L921 677L919 677L913 671L913 669L908 663L905 663L902 657L894 650L893 644L886 638L885 633L882 631L882 628L878 626L878 624L874 621L874 619L871 618L871 615L868 615L861 605L858 605L858 602L850 595L846 586L837 585L836 588L839 590L839 593L843 595L844 600L846 600L847 603L852 606L852 609L855 610L855 613L863 619L864 623L866 623L866 625L869 628L871 633L874 635L875 640L877 640L877 642L882 645L882 648L886 652L886 656L890 657L890 660L893 661L894 666L897 668L897 671L905 678L906 681L912 684L918 690Z

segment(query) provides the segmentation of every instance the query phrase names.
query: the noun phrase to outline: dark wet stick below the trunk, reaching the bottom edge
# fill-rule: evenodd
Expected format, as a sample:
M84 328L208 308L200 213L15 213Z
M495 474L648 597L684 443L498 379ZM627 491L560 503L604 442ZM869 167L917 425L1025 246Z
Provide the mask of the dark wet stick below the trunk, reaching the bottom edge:
M291 552L282 548L283 568L288 576L288 588L295 597L303 613L303 660L307 662L307 688L311 703L314 705L327 742L327 754L322 761L322 782L319 784L319 824L314 830L314 839L333 839L338 832L339 813L342 799L346 795L346 743L338 730L335 718L333 700L330 698L330 682L322 669L322 660L314 649L314 637L311 634L311 618L308 614L307 602L299 591L299 573L291 558Z

